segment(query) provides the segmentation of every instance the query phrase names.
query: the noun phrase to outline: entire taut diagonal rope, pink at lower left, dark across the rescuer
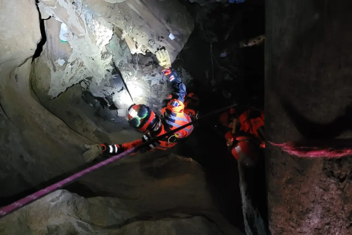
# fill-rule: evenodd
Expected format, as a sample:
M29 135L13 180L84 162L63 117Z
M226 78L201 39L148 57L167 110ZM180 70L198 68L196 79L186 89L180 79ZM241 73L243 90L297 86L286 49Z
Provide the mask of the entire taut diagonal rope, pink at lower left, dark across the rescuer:
M136 151L138 151L140 149L143 149L144 147L149 146L150 144L152 144L152 143L154 143L156 141L159 141L162 138L165 138L165 137L168 137L169 135L174 134L176 131L179 131L179 130L181 130L183 128L186 128L187 126L190 126L190 125L192 125L194 123L199 122L200 119L212 116L212 115L214 115L216 113L220 113L220 112L225 111L227 109L230 109L231 107L234 107L236 105L237 104L232 104L232 105L223 107L221 109L215 110L213 112L210 112L210 113L208 113L208 114L206 114L204 116L199 117L198 119L196 119L196 120L194 120L194 121L192 121L190 123L187 123L186 125L180 126L180 127L176 128L176 129L170 131L170 132L167 132L167 133L165 133L163 135L160 135L160 136L158 136L158 137L156 137L156 138L154 138L152 140L144 142L140 146L131 148L131 149L127 150L127 151L124 151L123 153L120 153L120 154L116 155L116 156L112 156L112 157L110 157L110 158L108 158L108 159L106 159L106 160L104 160L102 162L97 163L94 166L88 167L88 168L84 169L83 171L80 171L80 172L78 172L76 174L71 175L70 177L67 177L66 179L61 180L61 181L59 181L56 184L52 184L52 185L50 185L50 186L48 186L46 188L43 188L42 190L39 190L39 191L37 191L35 193L30 194L29 196L26 196L26 197L24 197L24 198L22 198L22 199L20 199L20 200L18 200L16 202L14 202L12 204L4 206L4 207L2 207L0 209L0 218L12 213L15 210L18 210L18 209L22 208L23 206L25 206L27 204L30 204L30 203L36 201L39 198L44 197L45 195L57 190L58 188L63 187L64 185L66 185L68 183L71 183L72 181L82 177L83 175L85 175L85 174L87 174L89 172L92 172L92 171L94 171L96 169L99 169L102 166L106 166L106 165L114 162L115 160L121 159L122 157L125 157L125 156L129 155L130 153L133 153L133 152L136 152Z

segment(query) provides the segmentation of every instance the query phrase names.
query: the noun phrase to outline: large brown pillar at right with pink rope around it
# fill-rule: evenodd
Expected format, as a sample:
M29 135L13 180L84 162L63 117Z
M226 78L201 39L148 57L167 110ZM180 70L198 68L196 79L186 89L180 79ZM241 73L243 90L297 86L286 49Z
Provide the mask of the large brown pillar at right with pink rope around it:
M351 138L350 1L266 1L265 129L281 143ZM269 225L278 234L351 234L352 158L266 148Z

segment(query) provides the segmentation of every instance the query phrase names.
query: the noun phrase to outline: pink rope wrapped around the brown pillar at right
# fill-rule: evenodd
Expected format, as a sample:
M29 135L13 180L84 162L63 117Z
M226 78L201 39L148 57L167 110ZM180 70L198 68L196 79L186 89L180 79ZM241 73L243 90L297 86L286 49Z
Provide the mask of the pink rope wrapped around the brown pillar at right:
M316 158L340 158L352 156L352 140L322 140L286 142L282 144L269 142L272 146L281 148L285 153L297 157Z

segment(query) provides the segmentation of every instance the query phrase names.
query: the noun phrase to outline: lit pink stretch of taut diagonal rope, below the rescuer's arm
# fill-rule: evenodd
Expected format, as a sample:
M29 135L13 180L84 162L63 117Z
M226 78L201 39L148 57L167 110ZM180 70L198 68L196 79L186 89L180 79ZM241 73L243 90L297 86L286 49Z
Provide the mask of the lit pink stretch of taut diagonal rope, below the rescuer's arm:
M50 185L42 190L39 190L27 197L24 197L20 200L18 200L17 202L14 202L10 205L7 205L7 206L4 206L3 208L0 209L0 218L1 217L4 217L8 214L10 214L11 212L13 212L14 210L18 210L20 208L22 208L23 206L29 204L29 203L32 203L34 202L35 200L39 199L40 197L43 197L44 195L46 194L49 194L55 190L57 190L58 188L61 188L62 186L64 186L65 184L68 184L72 181L74 181L75 179L78 179L80 177L82 177L83 175L89 173L89 172L92 172L102 166L106 166L110 163L112 163L113 161L117 160L117 159L121 159L122 157L130 154L131 152L134 151L135 148L132 148L130 150L127 150L127 151L124 151L123 153L120 153L119 155L116 155L116 156L113 156L113 157L110 157L108 159L106 159L105 161L102 161L102 162L99 162L98 164L94 165L94 166L91 166L87 169L84 169L83 171L80 171L74 175L71 175L70 177L67 177L66 179L64 180L61 180L59 181L58 183L56 184L53 184L53 185Z

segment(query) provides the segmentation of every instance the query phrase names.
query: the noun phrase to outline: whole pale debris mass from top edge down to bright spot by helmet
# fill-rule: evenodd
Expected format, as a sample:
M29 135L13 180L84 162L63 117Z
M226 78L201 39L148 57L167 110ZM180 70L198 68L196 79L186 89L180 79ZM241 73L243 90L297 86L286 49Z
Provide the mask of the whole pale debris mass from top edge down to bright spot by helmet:
M88 89L95 97L111 95L118 109L128 108L140 100L160 105L170 94L171 86L168 87L156 59L145 55L145 46L131 37L128 30L114 28L117 31L114 33L110 23L90 12L80 1L71 4L69 0L57 0L55 7L45 5L43 8L53 18L67 24L68 43L72 48L63 66L53 67L47 62L51 70L48 92L51 98L74 84L82 84L82 81L85 81L84 89ZM60 58L55 58L55 61L57 59ZM120 71L127 89L123 84L114 86L112 61ZM180 75L185 84L191 80L184 69L179 73L182 73Z

